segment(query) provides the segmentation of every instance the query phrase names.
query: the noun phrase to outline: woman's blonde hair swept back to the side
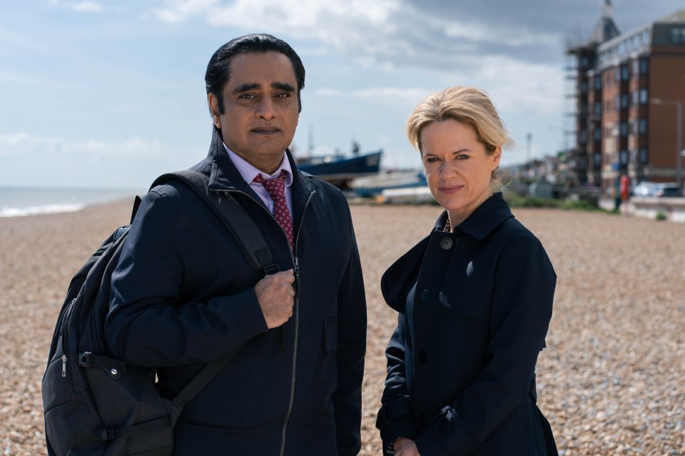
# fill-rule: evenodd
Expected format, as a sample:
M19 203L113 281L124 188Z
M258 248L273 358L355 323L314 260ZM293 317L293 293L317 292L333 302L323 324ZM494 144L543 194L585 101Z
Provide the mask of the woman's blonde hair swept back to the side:
M417 151L421 150L421 133L433 122L448 119L473 127L477 140L485 146L485 153L492 155L498 147L513 147L497 109L485 91L468 86L454 86L431 93L424 98L407 118L405 129L407 138ZM505 174L507 174L505 176ZM492 191L499 191L509 173L492 171Z

